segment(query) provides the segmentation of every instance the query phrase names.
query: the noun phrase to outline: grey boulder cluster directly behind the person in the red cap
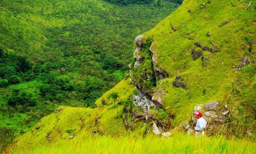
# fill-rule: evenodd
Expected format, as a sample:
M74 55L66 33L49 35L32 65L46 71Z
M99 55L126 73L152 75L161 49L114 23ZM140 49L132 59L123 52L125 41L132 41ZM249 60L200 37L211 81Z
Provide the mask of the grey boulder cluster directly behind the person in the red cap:
M204 107L203 107L204 106ZM207 125L205 130L207 130L207 134L213 135L216 133L220 126L228 122L228 105L221 106L218 101L212 101L205 105L199 104L194 107L193 113L191 113L191 120L183 122L180 127L187 131L188 134L193 133L194 127L196 126L196 117L194 113L202 112L203 118L207 121Z

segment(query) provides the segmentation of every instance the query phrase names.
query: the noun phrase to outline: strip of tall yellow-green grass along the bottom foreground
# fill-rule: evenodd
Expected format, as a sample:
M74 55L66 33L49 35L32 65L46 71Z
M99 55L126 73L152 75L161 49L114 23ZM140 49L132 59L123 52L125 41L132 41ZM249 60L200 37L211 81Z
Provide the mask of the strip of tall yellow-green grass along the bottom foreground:
M255 142L246 139L226 139L224 137L196 138L181 133L171 138L148 135L145 138L125 135L81 134L70 141L38 144L36 147L19 147L11 153L254 153Z

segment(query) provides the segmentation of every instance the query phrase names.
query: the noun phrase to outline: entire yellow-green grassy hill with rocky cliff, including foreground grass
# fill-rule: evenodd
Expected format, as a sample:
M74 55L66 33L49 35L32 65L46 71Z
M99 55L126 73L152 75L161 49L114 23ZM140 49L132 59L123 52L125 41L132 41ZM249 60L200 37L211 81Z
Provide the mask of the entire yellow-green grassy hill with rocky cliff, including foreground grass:
M248 0L184 0L136 37L130 78L93 109L58 107L7 152L253 153L255 17ZM198 110L212 117L206 133L214 134L196 140L184 132L191 134Z

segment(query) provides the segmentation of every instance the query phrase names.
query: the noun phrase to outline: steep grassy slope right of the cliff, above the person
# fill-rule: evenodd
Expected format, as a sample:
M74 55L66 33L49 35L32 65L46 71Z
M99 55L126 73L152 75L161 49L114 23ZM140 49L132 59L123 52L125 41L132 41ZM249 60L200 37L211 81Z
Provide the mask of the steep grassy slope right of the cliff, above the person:
M143 34L145 40L154 40L153 65L168 77L158 78L156 86L148 87L150 81L140 74L152 71L152 59L143 55L149 50L142 50L139 54L145 60L136 68L132 65L132 81L154 96L162 92L164 110L175 115L171 119L174 126L186 116L189 119L197 104L216 100L228 104L230 119L240 122L238 126L244 126L244 120L246 129L255 129L256 12L253 2L247 8L249 2L185 0ZM250 42L254 43L251 50ZM250 59L249 65L241 64L243 58ZM236 70L238 65L241 70ZM183 88L173 85L177 74Z

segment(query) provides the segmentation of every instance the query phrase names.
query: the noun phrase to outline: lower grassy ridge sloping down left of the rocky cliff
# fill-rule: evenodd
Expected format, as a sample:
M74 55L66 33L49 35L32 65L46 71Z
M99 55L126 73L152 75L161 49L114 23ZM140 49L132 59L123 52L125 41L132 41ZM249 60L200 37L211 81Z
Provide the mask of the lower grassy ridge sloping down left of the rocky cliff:
M116 106L109 94L117 92ZM99 107L74 108L60 106L54 113L42 118L26 134L19 137L14 146L34 148L61 140L68 141L81 134L93 133L120 135L126 134L123 109L132 104L131 96L136 93L130 80L122 80L97 100ZM102 99L105 100L104 105ZM118 111L118 113L117 113ZM119 118L116 118L118 114Z

